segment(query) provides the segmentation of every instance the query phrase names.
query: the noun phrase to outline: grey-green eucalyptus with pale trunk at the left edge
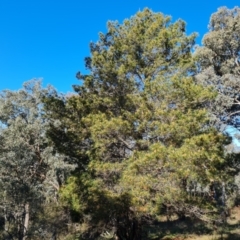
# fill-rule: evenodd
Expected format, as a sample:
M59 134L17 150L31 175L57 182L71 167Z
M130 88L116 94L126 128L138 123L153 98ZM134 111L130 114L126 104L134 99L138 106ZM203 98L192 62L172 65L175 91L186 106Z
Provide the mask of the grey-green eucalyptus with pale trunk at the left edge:
M7 239L36 238L37 216L57 194L57 177L66 170L45 135L42 98L54 92L32 80L18 91L0 93L0 208Z

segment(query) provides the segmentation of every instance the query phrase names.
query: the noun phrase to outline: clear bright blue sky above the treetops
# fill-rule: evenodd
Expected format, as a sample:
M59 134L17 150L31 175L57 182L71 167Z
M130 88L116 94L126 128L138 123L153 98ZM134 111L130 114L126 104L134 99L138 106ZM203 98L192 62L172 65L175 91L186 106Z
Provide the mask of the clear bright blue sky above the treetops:
M200 43L210 15L237 5L239 0L0 0L0 90L43 78L44 85L72 91L89 42L106 31L106 22L122 22L144 7L185 20Z

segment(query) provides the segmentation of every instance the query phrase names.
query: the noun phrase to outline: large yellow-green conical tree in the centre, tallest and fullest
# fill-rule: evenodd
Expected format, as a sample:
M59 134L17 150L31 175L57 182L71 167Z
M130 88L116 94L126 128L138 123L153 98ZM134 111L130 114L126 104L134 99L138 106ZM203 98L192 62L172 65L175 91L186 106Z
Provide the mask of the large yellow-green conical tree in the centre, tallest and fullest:
M139 240L164 206L207 219L209 187L229 180L223 166L231 158L204 109L215 93L191 77L195 34L145 9L109 22L99 38L86 58L90 73L77 74L78 95L45 98L48 136L78 164L61 199L82 238L107 230Z

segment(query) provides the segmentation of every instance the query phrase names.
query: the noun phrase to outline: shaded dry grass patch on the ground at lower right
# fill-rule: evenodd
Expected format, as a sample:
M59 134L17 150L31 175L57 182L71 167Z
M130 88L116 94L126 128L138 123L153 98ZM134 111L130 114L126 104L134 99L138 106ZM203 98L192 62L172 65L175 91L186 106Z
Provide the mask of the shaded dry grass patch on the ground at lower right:
M151 240L240 240L240 207L231 211L230 217L223 225L214 229L201 221L190 218L161 221L145 229Z

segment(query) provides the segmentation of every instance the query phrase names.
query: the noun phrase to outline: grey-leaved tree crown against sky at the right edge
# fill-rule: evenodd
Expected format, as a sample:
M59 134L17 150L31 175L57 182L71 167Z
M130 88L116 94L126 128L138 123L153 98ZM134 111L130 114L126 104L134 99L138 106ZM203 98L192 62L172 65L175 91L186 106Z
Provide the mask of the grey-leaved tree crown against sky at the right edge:
M210 105L218 128L239 126L240 111L240 8L219 8L212 14L203 46L195 53L197 81L212 86L218 96ZM223 125L224 124L224 125Z

